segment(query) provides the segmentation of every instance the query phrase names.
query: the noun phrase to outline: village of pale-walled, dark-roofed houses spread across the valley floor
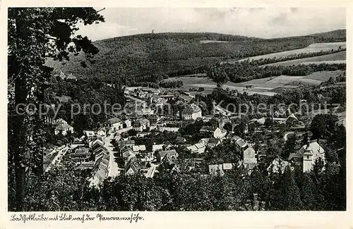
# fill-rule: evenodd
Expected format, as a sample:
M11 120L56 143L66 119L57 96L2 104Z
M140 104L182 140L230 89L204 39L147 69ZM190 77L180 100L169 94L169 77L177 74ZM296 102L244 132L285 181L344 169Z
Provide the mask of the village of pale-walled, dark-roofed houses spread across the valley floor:
M124 87L124 95L133 108L131 111L114 113L100 128L84 130L83 135L72 142L46 149L44 171L60 165L66 158L76 163L76 169L85 172L91 185L99 187L105 179L120 174L141 173L146 178L153 178L161 170L224 175L241 169L242 175L250 175L258 166L265 167L269 174L283 173L286 168L306 173L316 162L325 161L321 143L309 140L306 125L290 109L284 111L281 118L274 118L278 115L271 113L272 110L269 116L253 118L244 125L241 116L222 109L215 101L210 114L203 114L195 96L186 91ZM183 109L173 115L173 111L168 110L172 109L170 104L182 104ZM62 118L51 120L51 123L55 135L66 136L74 132ZM188 125L199 126L197 137L182 134ZM297 135L295 149L287 158L277 156L269 161L265 141L255 142L251 136L270 132L271 137L280 130L284 133L283 144L290 135ZM233 147L236 159L231 156L210 159L210 151L215 147L222 148L224 144Z

